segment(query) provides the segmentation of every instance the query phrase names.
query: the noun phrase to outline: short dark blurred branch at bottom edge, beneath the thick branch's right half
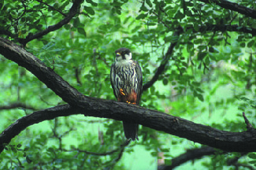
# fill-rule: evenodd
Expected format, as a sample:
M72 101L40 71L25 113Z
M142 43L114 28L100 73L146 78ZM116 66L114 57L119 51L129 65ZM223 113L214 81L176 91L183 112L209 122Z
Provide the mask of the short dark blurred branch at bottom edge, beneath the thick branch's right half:
M198 149L187 150L186 153L180 154L180 156L172 159L172 165L160 165L158 170L169 170L184 164L187 161L194 161L195 159L200 159L201 157L212 155L216 152L214 148L209 146L203 146Z

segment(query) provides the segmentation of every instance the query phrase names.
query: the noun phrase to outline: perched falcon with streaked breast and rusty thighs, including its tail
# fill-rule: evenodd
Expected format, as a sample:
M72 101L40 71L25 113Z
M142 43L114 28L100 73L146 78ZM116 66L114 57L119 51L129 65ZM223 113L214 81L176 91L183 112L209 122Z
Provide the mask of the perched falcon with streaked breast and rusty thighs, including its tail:
M139 63L132 60L132 53L128 48L115 51L116 59L111 66L110 81L117 101L139 105L143 91L143 74ZM129 140L138 139L139 124L123 121L124 135Z

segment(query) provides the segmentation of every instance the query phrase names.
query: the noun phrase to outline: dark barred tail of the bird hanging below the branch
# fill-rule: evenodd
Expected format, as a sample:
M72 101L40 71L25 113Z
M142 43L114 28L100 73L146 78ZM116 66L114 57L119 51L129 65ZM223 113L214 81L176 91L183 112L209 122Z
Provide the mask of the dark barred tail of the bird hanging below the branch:
M138 127L139 124L130 124L127 122L123 122L123 127L124 127L124 135L126 139L132 139L135 141L135 139L139 140L138 138Z

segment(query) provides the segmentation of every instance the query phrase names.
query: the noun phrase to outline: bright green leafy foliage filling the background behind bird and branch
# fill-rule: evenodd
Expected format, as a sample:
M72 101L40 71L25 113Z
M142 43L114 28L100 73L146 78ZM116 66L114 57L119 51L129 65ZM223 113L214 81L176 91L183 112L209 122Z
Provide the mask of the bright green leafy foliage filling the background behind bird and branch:
M159 65L166 64L158 81L143 91L143 107L221 130L243 131L243 112L255 125L256 20L214 2L87 0L68 24L23 44L22 39L67 17L76 1L6 0L0 3L0 34L25 45L83 94L112 100L109 68L113 52L128 47L143 68L143 83L150 81ZM243 1L242 5L253 9L254 2ZM183 32L178 36L174 32L179 28ZM173 42L173 54L165 61ZM37 109L64 103L24 68L4 57L0 61L1 107L13 103L29 106L3 109L2 129ZM116 120L83 116L33 125L5 146L0 168L128 169L127 160L120 161L125 146L121 129ZM139 152L169 165L180 153L200 145L140 127L139 142L127 146L124 154L139 153L138 146L142 146ZM228 164L234 157L238 157L236 164ZM255 154L248 157L217 152L196 166L247 169L247 165L255 165ZM139 167L137 163L133 166ZM139 168L147 166L148 161Z

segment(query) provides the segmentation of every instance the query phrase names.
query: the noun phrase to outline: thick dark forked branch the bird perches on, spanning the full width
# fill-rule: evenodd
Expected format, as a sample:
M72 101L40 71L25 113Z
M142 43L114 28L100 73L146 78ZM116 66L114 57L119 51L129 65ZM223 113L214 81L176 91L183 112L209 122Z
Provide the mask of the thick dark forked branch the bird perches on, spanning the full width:
M52 91L69 105L59 105L24 116L2 132L0 143L9 141L31 124L51 120L58 116L83 113L85 116L105 117L114 120L125 120L135 124L165 131L203 145L221 150L236 152L256 151L256 130L243 132L220 131L202 124L195 124L176 116L145 109L138 105L91 98L80 94L69 83L65 82L51 68L46 67L38 58L9 40L0 38L0 54L27 68Z

